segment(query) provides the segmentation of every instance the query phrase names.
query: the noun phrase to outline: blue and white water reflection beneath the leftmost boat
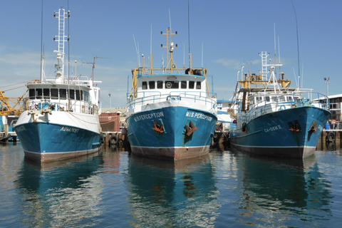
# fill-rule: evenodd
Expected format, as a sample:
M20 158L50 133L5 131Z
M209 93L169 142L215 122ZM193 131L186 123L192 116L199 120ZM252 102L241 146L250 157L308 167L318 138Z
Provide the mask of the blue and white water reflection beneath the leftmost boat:
M25 159L16 186L21 193L21 223L28 227L69 227L102 213L102 181L97 154L40 164Z

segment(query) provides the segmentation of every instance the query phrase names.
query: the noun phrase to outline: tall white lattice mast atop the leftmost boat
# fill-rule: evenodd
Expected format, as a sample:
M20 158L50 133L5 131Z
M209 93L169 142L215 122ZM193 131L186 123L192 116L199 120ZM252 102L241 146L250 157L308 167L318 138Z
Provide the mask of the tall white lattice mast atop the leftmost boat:
M57 16L56 16L57 15ZM70 18L70 11L66 12L63 7L59 9L58 13L53 12L53 17L58 19L58 36L53 36L53 41L58 42L58 50L53 51L57 54L56 68L56 83L63 83L64 76L64 43L69 41L69 36L65 35L66 19ZM67 38L67 39L66 39Z

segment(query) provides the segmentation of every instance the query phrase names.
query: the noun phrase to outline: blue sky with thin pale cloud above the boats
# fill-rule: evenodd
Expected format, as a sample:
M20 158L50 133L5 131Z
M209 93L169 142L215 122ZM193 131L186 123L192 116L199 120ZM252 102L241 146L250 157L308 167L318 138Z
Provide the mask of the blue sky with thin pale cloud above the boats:
M323 78L331 77L329 95L342 93L342 1L293 0L299 29L300 71L297 58L296 18L291 0L190 0L190 52L192 66L208 69L213 76L214 93L218 99L229 100L237 83L237 71L247 62L251 71L261 67L259 53L267 51L274 59L274 25L276 49L281 71L296 86L295 74L300 72L304 88L326 94ZM172 41L178 48L174 60L178 67L187 66L189 51L188 1L126 0L43 1L43 46L46 55L46 76L54 76L57 43L57 19L53 11L63 6L71 11L70 61L71 72L91 76L94 56L95 80L102 81L102 108L109 108L108 93L113 107L125 107L128 76L137 66L135 42L140 55L150 55L152 26L152 63L162 65L166 58L166 32L170 27ZM40 75L41 1L2 1L0 8L0 86L8 86ZM279 40L279 43L278 43ZM202 48L203 46L203 48ZM185 52L185 55L184 55ZM202 55L203 53L203 55ZM68 53L66 53L68 55ZM184 60L185 56L185 60ZM203 59L202 59L203 56ZM277 56L278 58L278 56ZM146 61L146 60L145 60ZM203 62L203 64L202 64ZM211 85L210 85L211 88ZM7 90L7 88L0 88ZM7 90L16 97L24 88Z

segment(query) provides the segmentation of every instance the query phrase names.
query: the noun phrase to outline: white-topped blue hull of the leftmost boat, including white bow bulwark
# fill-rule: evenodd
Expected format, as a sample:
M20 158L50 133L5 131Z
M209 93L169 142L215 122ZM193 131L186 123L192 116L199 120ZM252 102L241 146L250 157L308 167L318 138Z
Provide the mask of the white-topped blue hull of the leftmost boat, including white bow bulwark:
M43 118L48 118L48 121L38 118L35 122L24 112L14 128L26 157L39 162L52 162L99 150L100 128L95 115L84 115L82 118L76 113L55 112Z

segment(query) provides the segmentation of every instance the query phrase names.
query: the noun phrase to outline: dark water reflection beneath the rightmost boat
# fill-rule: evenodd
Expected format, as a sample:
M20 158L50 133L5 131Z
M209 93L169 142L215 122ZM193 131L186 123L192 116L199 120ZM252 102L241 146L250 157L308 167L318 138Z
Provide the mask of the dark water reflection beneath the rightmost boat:
M292 226L331 219L331 183L318 170L315 156L304 160L241 156L239 222Z

